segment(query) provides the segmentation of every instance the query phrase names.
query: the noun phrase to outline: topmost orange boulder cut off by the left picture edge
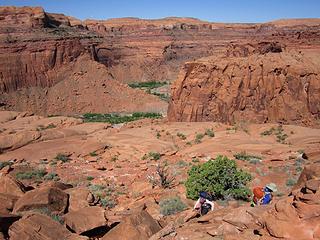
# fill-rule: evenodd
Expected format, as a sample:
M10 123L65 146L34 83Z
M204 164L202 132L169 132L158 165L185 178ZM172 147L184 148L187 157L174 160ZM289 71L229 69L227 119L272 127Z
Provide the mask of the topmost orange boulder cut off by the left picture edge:
M24 195L25 186L9 174L0 176L0 193L21 197Z

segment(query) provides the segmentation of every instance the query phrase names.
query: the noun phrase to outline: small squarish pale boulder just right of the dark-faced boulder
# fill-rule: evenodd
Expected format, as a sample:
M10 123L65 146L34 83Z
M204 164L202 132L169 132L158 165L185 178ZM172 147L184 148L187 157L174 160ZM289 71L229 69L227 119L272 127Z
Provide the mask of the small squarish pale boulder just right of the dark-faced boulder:
M95 205L93 194L87 188L70 188L64 192L69 194L69 212Z

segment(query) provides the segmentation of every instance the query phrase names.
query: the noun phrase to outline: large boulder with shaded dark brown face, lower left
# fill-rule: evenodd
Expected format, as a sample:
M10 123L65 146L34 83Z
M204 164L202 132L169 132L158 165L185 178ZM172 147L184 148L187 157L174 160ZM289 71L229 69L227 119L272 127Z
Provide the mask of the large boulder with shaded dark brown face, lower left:
M36 209L47 209L51 213L64 213L68 205L68 194L58 188L43 187L27 192L14 206L14 213Z

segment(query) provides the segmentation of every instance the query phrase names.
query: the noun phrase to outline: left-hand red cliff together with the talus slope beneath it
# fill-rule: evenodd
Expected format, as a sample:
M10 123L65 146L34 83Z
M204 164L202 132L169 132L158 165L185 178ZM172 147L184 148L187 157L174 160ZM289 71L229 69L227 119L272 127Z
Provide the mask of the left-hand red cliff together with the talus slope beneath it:
M0 106L39 114L162 111L95 62L101 37L42 8L0 8Z

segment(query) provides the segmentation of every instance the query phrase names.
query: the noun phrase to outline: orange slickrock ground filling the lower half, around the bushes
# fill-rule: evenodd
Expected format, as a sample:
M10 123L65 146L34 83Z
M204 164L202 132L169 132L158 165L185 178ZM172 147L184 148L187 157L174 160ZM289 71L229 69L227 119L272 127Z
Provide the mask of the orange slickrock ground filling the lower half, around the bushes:
M40 136L18 148L1 149L0 222L7 224L0 232L6 238L319 237L319 129L277 124L172 123L166 119L119 126L5 111L0 116L1 137L24 131ZM49 124L55 127L46 128ZM282 129L287 135L282 143L274 134L261 134L272 128ZM196 136L207 129L215 133L214 137L204 135L196 142ZM179 137L181 134L185 137ZM233 159L242 151L261 157L236 162L252 174L249 187L277 184L273 203L251 208L247 202L216 201L215 211L195 218L194 201L186 199L183 185L191 165L220 154ZM148 157L150 152L159 153L160 159ZM170 166L169 174L174 177L171 188L152 187L150 177L156 176L159 162ZM159 202L171 196L179 196L187 209L163 216ZM146 208L137 208L141 205Z

